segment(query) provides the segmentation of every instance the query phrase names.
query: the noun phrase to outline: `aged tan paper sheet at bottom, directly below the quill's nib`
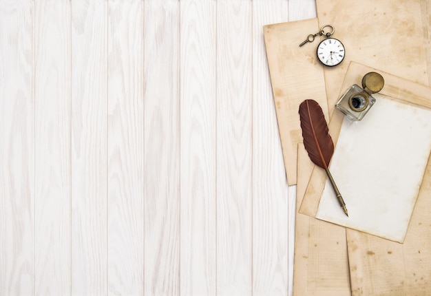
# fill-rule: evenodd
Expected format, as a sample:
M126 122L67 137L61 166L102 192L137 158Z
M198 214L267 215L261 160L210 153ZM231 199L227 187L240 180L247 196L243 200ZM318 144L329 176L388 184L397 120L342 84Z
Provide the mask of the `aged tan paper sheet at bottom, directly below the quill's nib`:
M297 209L313 170L308 154L298 145ZM296 213L293 295L348 296L350 277L346 229Z

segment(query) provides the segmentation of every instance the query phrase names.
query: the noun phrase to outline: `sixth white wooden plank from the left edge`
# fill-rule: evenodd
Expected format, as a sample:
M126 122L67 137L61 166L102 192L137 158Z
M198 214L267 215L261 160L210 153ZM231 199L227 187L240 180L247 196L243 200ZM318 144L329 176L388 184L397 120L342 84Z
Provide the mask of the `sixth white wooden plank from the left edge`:
M181 1L181 295L216 293L215 1Z

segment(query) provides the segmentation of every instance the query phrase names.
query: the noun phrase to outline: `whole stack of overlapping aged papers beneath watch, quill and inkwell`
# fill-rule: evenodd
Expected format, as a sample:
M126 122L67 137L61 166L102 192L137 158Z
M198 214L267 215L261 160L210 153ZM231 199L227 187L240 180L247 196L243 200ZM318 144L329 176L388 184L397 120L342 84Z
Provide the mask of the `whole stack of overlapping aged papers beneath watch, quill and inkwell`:
M431 109L431 88L425 85L431 81L431 16L428 13L431 1L316 2L318 19L264 27L286 176L288 184L297 184L294 295L427 295L431 288L431 163L428 162L431 134L428 129L430 121L427 120ZM298 46L308 34L319 32L319 28L326 24L334 25L333 37L346 47L345 60L332 68L317 61L318 40ZM392 107L395 112L399 111L399 122L412 124L412 134L417 136L413 140L421 147L421 151L412 152L418 156L415 160L410 161L411 155L400 159L401 165L416 162L408 171L395 171L392 175L392 178L402 178L383 182L386 192L396 188L392 191L391 208L381 206L389 204L388 200L376 200L380 206L372 213L373 216L381 213L382 217L386 215L387 219L394 221L393 227L386 225L384 233L379 233L380 227L375 225L379 220L361 228L367 220L361 219L364 212L357 212L356 220L353 220L356 224L349 224L348 218L342 216L344 214L337 209L335 197L325 186L326 174L322 169L314 168L301 144L302 132L297 115L299 103L305 99L313 98L319 102L330 118L330 135L336 143L331 171L335 167L348 167L351 160L346 159L344 163L343 158L351 156L348 153L352 148L348 145L354 140L351 134L359 134L357 128L362 122L348 126L344 116L333 111L333 106L348 86L353 83L360 85L361 77L370 71L379 72L385 79L385 86L376 95L378 101L372 111L380 114L381 110L391 108L387 105L382 109L385 102L395 102ZM379 102L383 103L377 107ZM421 113L419 120L414 116L417 112ZM379 116L370 111L364 123L368 119L378 122ZM423 127L421 120L424 121ZM397 120L394 123L397 124ZM406 131L401 134L406 135ZM412 139L401 143L408 141ZM381 142L376 145L380 147ZM344 154L339 147L344 147ZM394 147L388 154L393 151L399 149ZM376 160L379 158L373 161ZM375 163L374 168L377 167L391 173L397 165ZM407 180L410 174L414 177ZM375 175L373 181L379 179L376 176L379 175ZM339 187L348 181L335 178ZM376 182L370 184L377 186ZM417 184L415 188L413 184ZM399 195L403 189L407 191ZM348 192L355 193L355 190ZM404 203L399 203L403 198ZM350 199L350 207L345 194L344 199L349 214L361 206L357 197L356 200ZM368 203L365 206L368 207ZM400 204L399 208L392 207L395 204ZM402 218L389 218L394 211L401 213Z

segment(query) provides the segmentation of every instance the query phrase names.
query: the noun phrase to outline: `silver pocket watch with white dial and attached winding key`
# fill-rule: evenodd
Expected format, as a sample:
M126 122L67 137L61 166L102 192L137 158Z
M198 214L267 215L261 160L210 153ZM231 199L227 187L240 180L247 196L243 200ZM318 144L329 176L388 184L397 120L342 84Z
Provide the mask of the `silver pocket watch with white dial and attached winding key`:
M332 31L325 33L325 28L331 28ZM306 41L299 44L299 46L302 46L308 42L313 42L315 36L317 35L326 36L326 39L317 45L317 59L319 59L322 64L328 67L336 66L344 60L346 49L344 48L344 45L341 43L341 41L330 37L332 34L334 34L334 32L335 28L333 25L324 25L316 34L308 35Z

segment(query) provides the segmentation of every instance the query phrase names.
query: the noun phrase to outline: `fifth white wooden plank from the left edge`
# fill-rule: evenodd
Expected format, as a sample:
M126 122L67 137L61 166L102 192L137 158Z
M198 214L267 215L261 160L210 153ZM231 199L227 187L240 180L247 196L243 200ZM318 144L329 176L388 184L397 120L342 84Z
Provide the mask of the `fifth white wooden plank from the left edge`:
M145 294L180 290L180 2L145 1Z

